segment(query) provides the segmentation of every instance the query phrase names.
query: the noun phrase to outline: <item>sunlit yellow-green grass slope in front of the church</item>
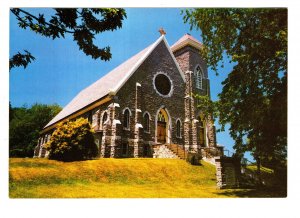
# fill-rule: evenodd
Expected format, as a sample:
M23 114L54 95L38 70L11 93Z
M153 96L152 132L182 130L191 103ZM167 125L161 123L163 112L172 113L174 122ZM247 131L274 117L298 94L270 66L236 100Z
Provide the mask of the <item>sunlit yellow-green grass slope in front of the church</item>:
M176 159L58 162L11 158L11 198L278 197L272 192L216 187L215 166Z

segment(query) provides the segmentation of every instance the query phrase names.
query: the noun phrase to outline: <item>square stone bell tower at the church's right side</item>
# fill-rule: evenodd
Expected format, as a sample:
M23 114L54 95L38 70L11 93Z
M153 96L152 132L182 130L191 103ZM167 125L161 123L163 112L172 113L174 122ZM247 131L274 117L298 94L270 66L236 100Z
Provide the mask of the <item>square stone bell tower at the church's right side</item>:
M171 50L185 74L185 148L198 152L204 147L216 147L216 134L212 116L203 116L197 108L198 99L195 94L210 97L210 84L207 65L200 55L202 43L190 34L185 34Z

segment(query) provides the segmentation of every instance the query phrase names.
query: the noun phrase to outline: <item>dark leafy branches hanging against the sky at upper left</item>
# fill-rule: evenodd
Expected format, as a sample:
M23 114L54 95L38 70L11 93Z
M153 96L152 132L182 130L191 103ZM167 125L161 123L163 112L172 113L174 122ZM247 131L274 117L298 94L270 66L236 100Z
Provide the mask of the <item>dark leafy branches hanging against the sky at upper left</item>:
M71 35L80 50L93 59L108 61L111 58L110 47L98 47L94 43L95 35L114 31L122 27L126 18L124 9L118 8L55 8L55 14L47 19L44 14L33 15L28 10L12 8L18 25L23 29L30 29L41 36L52 39L65 38ZM16 54L10 61L10 69L23 66L26 68L34 57L26 54Z

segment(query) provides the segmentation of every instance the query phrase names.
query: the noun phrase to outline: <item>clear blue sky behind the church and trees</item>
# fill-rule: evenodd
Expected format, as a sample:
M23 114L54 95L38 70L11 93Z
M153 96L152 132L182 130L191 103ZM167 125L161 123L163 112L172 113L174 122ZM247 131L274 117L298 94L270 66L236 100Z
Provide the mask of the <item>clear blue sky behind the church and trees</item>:
M45 13L46 16L53 13L52 9L41 8L30 11ZM10 14L10 56L26 49L36 57L25 70L19 67L10 72L9 99L12 106L57 103L64 107L82 89L152 44L159 37L160 27L167 32L169 45L185 33L202 41L200 31L190 31L189 25L184 24L181 9L127 8L126 12L127 19L121 29L105 32L95 40L98 46L111 47L112 59L108 62L86 56L69 36L52 40L21 29ZM232 65L227 63L225 68L220 69L219 76L209 70L213 100L221 92L221 82L231 68ZM233 140L228 131L217 133L217 142L232 151Z

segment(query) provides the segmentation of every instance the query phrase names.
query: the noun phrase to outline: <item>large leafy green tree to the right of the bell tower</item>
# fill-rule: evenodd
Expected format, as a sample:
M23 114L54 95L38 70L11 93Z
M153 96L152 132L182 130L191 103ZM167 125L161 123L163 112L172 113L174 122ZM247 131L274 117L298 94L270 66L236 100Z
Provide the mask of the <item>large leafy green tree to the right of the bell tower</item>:
M230 124L238 153L276 168L287 148L287 9L189 9L184 21L201 30L208 65L227 56L233 70L222 82L219 121Z

